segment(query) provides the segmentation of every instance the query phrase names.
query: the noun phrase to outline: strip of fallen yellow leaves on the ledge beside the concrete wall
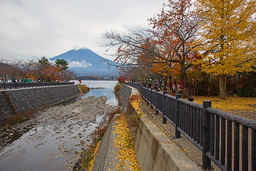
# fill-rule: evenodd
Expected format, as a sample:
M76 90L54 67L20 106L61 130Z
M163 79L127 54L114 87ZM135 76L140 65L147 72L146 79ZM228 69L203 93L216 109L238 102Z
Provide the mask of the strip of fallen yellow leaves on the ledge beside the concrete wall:
M122 113L115 119L116 126L115 132L117 133L117 139L114 140L116 148L119 148L117 158L119 163L116 165L116 170L123 169L126 167L133 170L140 170L137 162L135 151L133 150L132 138L127 127L125 114Z

